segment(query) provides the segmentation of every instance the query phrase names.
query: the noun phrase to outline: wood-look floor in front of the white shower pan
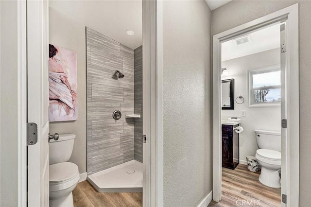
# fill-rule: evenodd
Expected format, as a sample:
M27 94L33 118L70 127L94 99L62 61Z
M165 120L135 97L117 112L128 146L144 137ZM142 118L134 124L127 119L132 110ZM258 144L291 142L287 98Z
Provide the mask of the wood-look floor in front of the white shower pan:
M75 207L141 207L141 192L97 192L87 181L72 191Z

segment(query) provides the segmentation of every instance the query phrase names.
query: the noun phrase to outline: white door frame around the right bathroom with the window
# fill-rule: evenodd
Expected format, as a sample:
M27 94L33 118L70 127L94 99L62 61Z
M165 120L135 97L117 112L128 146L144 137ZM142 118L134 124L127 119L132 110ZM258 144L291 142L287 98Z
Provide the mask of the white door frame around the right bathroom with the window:
M287 68L286 104L287 136L282 144L287 147L285 157L285 191L287 206L299 206L299 4L296 3L272 14L229 29L213 36L213 200L219 202L222 194L221 150L221 43L254 30L286 21ZM283 130L282 130L283 132ZM282 170L283 172L283 170ZM282 173L283 174L283 173ZM283 189L283 188L282 188ZM285 206L282 203L282 206Z

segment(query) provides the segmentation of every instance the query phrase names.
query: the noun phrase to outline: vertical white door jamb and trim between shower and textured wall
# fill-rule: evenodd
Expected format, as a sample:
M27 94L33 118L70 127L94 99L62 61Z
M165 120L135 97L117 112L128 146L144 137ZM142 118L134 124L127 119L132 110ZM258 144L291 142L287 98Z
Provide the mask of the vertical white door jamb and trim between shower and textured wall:
M163 206L162 0L143 0L143 207Z

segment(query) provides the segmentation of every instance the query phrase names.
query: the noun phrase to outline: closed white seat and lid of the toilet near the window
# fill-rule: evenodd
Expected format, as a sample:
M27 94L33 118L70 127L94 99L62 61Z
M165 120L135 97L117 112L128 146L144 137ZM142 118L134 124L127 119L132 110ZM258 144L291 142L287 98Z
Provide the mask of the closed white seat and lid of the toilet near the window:
M281 153L275 150L258 149L256 151L256 158L272 165L281 164Z

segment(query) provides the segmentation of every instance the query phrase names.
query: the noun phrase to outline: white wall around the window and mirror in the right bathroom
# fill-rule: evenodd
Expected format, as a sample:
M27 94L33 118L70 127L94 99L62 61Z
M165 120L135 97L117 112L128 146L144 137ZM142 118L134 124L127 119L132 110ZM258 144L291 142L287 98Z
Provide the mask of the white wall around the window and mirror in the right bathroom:
M222 110L223 120L240 117L241 110L245 110L245 117L241 117L244 131L240 134L240 163L246 163L246 156L255 156L258 149L255 129L281 131L280 107L248 107L247 103L247 70L269 67L280 64L279 49L259 52L222 62L222 68L227 68L229 75L222 79L234 79L234 99L242 95L244 104L234 103L234 110Z

